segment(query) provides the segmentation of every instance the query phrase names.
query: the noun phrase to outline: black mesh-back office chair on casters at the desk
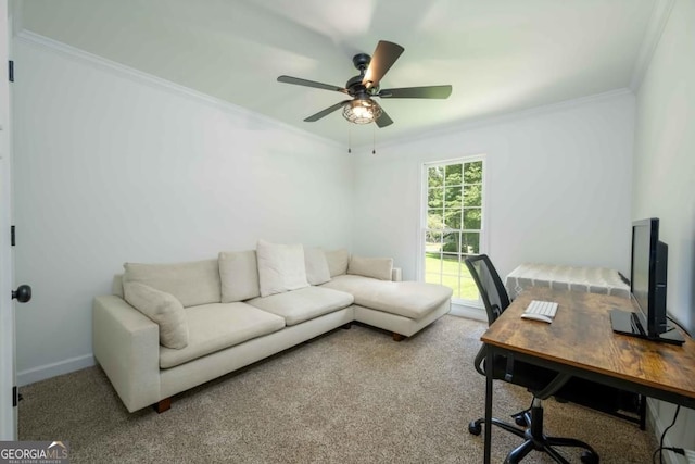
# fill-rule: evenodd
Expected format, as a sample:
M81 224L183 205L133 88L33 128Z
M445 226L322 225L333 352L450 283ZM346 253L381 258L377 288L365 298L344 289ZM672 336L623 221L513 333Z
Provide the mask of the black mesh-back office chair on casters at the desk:
M488 324L492 324L509 305L507 291L486 254L466 259L466 266L470 271L480 291L480 298L485 305ZM557 396L559 399L564 390L569 392L571 376L503 355L495 355L495 359L490 361L486 359L486 350L481 347L475 361L476 371L485 375L485 369L492 368L493 378L525 387L533 394L531 406L528 410L511 415L516 425L492 418L494 426L525 439L523 443L507 455L505 464L518 463L533 450L549 454L558 463L568 463L553 447L583 448L585 451L581 455L582 463L598 463L598 454L587 443L573 438L548 437L543 434L542 400L552 396ZM583 386L578 385L578 388L583 388ZM576 393L569 396L572 398L581 397ZM472 421L468 425L468 431L472 435L480 435L484 421L484 418Z

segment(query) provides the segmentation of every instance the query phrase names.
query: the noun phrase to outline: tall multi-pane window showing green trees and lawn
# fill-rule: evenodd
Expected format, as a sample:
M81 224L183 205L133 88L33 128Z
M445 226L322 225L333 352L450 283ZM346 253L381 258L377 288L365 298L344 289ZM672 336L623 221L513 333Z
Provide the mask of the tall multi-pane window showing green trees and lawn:
M484 252L484 158L426 164L422 218L425 281L454 290L456 303L476 304L478 288L464 260Z

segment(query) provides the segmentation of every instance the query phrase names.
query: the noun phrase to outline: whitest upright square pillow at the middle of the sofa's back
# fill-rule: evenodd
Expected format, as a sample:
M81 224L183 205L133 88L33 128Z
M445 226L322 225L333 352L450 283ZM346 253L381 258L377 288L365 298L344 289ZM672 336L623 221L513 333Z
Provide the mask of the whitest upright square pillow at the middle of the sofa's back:
M269 243L258 240L258 284L261 297L308 287L301 244Z

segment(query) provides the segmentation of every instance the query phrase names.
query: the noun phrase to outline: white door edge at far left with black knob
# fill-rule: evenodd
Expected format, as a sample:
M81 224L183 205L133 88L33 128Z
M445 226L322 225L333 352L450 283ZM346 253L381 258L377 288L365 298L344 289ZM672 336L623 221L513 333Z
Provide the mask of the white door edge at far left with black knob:
M0 440L17 439L17 415L12 387L14 368L14 308L10 222L12 187L10 164L8 0L0 0Z

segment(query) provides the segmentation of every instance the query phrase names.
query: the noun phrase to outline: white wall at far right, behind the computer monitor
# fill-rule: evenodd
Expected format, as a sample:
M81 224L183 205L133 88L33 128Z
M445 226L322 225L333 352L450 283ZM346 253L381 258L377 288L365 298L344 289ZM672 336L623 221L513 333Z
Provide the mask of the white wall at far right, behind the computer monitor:
M695 336L695 2L675 0L637 91L632 215L660 218L669 246L667 306ZM654 403L657 428L674 407ZM681 412L668 437L695 450L695 412Z

